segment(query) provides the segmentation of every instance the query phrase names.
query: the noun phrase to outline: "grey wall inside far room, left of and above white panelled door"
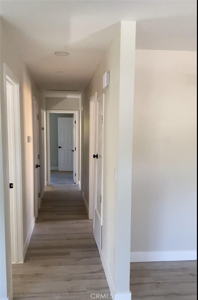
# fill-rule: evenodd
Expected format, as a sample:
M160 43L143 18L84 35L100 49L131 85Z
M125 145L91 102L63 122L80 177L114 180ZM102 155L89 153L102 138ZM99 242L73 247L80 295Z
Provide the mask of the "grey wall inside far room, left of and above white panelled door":
M52 170L58 170L58 118L73 118L70 113L50 113L50 166Z

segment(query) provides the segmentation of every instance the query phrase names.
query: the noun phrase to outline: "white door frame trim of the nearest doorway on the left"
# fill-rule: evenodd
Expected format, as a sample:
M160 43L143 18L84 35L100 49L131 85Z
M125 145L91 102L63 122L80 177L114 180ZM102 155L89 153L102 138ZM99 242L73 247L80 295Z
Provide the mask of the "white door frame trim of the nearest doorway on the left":
M24 249L23 249L23 194L22 194L22 158L21 158L21 122L20 122L20 97L19 97L19 80L15 74L10 70L10 68L3 63L3 80L4 80L4 108L5 108L5 122L6 122L6 165L7 176L6 176L6 186L7 194L9 200L9 210L10 210L10 221L11 215L14 217L14 222L10 228L10 236L13 241L11 252L12 252L12 263L23 263L24 262ZM7 113L7 90L6 81L9 81L13 87L13 98L10 99L10 109L14 119L14 149L13 149L13 164L9 164L9 131L8 131L8 113ZM15 101L15 105L12 103ZM10 116L9 116L10 117ZM13 140L13 139L12 139ZM11 151L11 150L10 150ZM14 197L14 202L10 201L10 179L9 174L13 174L13 183L16 186L16 193ZM14 245L14 247L13 247ZM14 249L13 249L14 248Z

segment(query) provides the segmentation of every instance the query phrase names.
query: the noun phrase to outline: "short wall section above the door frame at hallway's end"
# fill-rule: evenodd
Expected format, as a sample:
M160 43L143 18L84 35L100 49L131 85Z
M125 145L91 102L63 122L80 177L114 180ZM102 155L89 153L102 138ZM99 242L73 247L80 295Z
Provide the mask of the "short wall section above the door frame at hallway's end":
M79 110L80 99L46 97L45 105L47 110Z

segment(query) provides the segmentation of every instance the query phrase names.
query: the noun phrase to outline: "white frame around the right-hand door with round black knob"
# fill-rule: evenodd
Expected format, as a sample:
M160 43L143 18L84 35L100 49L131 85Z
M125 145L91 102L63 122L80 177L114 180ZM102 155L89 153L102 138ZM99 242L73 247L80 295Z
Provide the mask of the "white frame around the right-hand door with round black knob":
M97 96L97 95L96 95ZM99 254L101 254L101 249L102 249L102 220L103 220L103 170L104 170L104 121L105 121L105 116L104 116L104 111L105 111L105 94L103 93L100 97L96 97L96 105L95 105L95 113L97 112L97 102L100 100L103 101L102 103L102 116L103 116L103 122L102 122L102 174L101 174L101 245L100 249L98 249ZM95 121L97 122L97 116L95 114ZM97 126L95 126L95 141L94 141L94 152L96 152L96 135L97 135ZM93 210L95 211L95 206L96 206L96 191L95 191L95 181L96 181L96 163L94 159L94 203L93 203ZM94 226L95 226L95 214L93 214L93 235L94 235Z

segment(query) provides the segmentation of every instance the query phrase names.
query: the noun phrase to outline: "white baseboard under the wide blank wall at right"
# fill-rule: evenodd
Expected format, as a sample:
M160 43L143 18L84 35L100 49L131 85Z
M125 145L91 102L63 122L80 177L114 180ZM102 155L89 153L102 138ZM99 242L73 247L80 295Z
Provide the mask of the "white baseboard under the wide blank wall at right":
M197 251L131 252L131 262L196 260Z

